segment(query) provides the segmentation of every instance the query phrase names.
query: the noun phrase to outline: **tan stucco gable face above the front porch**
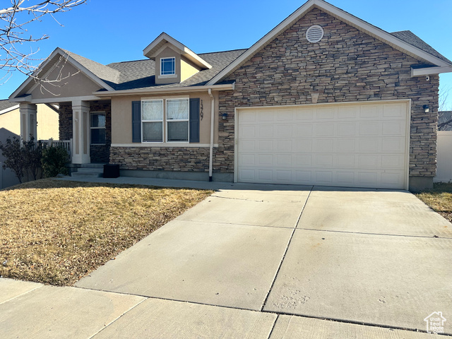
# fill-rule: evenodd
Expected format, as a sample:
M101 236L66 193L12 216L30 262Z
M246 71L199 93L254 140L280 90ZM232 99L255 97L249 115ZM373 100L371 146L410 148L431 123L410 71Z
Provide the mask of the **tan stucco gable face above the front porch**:
M93 92L101 89L100 85L97 85L97 83L69 63L55 68L47 76L47 79L52 81L59 77L64 80L59 83L42 82L38 84L31 92L32 99L54 98L55 102L58 102L61 97L93 95Z

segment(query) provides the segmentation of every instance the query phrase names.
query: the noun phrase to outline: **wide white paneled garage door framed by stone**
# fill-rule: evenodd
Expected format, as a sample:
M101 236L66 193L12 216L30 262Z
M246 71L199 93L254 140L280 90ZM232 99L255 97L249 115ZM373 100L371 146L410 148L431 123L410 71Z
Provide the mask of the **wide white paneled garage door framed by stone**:
M408 103L237 110L236 180L407 189Z

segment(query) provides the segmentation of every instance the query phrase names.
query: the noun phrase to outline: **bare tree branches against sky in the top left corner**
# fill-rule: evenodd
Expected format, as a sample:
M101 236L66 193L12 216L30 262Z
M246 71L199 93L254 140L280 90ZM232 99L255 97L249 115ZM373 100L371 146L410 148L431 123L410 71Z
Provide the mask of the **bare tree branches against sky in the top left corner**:
M4 72L1 81L8 80L11 72L19 71L26 76L33 76L38 61L35 58L39 48L33 50L30 44L48 39L48 35L33 37L26 26L33 21L42 21L55 13L71 11L88 0L9 0L11 6L0 9L0 70ZM6 1L4 1L6 2Z

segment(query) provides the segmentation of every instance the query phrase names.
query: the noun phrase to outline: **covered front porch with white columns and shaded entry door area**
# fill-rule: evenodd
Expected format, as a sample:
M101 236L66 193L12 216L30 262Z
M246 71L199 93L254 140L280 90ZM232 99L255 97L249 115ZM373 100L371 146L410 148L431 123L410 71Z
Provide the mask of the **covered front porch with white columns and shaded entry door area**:
M59 140L42 142L65 148L73 167L108 163L112 143L111 101L73 100L54 105L59 107ZM20 138L37 140L40 137L37 135L37 105L20 102L19 109Z

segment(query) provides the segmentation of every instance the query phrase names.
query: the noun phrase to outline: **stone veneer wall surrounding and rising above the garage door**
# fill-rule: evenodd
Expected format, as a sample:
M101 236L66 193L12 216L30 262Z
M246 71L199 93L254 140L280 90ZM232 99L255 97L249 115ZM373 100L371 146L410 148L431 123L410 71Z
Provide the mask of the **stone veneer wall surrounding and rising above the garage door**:
M305 33L321 25L325 35L311 44ZM314 8L234 71L235 90L220 92L219 148L215 172L234 172L234 107L411 99L410 176L436 173L439 76L411 78L420 61ZM430 112L424 113L423 105Z

